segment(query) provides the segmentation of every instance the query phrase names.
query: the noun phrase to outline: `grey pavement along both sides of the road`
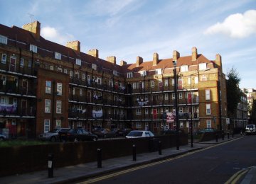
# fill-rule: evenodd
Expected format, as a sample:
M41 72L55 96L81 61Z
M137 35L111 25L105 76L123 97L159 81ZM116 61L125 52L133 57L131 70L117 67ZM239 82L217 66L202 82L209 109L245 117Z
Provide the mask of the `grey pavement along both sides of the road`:
M235 137L230 137L230 139L228 139L227 137L225 137L225 139L218 139L218 142L216 142L215 140L208 142L197 142L195 140L193 143L193 147L191 147L191 143L188 143L188 145L179 146L178 150L176 149L176 147L172 147L169 149L162 149L161 152L155 151L137 154L136 161L134 161L134 157L132 155L114 159L107 159L102 161L101 168L98 168L97 161L83 163L75 166L65 166L63 168L54 168L53 178L48 178L48 170L35 171L33 173L24 173L15 176L6 176L0 178L0 183L75 183L79 180L85 180L87 178L112 173L114 171L120 171L135 166L141 166L144 164L161 161L164 159L174 158L176 156L188 154L189 152L207 149L208 147L215 144L228 142L233 139L238 139L240 137L242 136L236 134ZM238 171L238 173L235 173L235 175L232 176L226 183L256 183L256 166Z

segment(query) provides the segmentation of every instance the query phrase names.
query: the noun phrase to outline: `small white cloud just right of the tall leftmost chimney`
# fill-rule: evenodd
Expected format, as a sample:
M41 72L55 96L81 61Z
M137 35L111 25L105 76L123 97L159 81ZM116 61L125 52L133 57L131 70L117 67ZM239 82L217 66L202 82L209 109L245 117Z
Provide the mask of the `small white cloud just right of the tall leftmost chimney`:
M46 40L51 40L53 42L58 42L61 45L65 45L66 42L70 42L74 40L74 36L70 34L61 34L56 30L55 28L52 27L43 27L41 28L41 35L43 38Z

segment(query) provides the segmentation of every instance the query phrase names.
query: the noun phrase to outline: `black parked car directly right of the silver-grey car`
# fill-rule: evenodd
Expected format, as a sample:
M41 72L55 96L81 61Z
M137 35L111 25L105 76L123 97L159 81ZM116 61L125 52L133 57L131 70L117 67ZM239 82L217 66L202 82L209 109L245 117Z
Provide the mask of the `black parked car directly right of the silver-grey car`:
M60 133L60 140L78 142L78 141L97 141L97 135L85 129L70 129L68 132Z

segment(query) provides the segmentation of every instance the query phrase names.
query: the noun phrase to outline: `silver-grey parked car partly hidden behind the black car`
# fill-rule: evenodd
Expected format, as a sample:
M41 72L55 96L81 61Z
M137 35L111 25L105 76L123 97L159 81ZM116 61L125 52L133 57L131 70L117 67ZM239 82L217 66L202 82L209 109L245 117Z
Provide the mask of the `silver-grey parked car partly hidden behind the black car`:
M38 135L38 139L42 141L56 142L59 140L60 132L67 132L70 128L55 128L50 132L46 132Z

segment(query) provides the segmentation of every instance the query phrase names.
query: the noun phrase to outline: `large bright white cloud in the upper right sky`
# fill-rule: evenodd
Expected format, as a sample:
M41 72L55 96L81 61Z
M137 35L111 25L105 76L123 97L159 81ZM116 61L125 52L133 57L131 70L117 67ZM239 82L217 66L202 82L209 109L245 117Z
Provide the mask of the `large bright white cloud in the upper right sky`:
M225 18L223 23L215 23L215 25L210 26L204 34L217 33L228 35L230 38L246 38L256 34L256 10L230 15Z

